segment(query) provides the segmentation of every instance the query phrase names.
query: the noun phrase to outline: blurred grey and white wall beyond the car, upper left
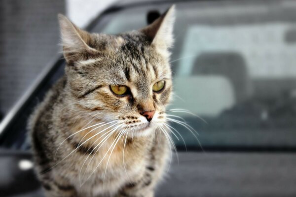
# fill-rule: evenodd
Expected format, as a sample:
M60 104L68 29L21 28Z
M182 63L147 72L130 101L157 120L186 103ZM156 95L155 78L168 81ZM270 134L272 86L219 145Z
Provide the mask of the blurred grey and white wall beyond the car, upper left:
M85 28L115 0L1 0L0 116L61 53L57 14Z

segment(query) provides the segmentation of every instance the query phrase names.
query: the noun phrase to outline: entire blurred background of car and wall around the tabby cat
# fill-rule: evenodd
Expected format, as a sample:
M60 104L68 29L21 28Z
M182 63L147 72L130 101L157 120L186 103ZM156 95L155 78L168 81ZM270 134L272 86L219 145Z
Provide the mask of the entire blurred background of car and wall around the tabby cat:
M42 195L26 122L63 75L57 13L90 32L120 33L172 3L169 109L199 135L172 122L179 163L156 196L296 196L295 0L1 0L1 197Z

